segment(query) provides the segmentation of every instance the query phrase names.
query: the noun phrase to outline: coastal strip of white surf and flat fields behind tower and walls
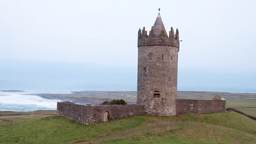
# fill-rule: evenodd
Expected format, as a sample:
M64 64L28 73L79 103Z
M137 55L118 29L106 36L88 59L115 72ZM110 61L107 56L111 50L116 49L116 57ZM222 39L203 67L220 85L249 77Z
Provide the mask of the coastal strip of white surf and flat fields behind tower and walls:
M27 95L27 97L25 97ZM178 91L178 99L213 99L220 95L226 99L227 107L256 116L255 93L196 92ZM57 101L71 101L76 104L98 105L103 101L123 99L127 104L136 104L136 91L82 91L67 93L36 92L0 92L0 110L2 111L36 111L56 110Z

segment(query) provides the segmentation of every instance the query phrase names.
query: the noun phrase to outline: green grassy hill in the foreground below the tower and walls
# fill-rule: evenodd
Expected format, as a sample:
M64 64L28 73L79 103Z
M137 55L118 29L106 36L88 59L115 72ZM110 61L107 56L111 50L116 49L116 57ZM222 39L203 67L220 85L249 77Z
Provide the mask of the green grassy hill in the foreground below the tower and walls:
M256 121L235 112L135 116L84 125L60 116L0 123L0 143L255 143Z

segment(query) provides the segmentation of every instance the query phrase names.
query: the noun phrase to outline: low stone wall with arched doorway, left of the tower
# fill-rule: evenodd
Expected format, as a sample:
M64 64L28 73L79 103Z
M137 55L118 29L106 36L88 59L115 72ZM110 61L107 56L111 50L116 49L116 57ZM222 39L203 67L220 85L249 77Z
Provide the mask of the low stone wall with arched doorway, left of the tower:
M144 115L144 105L79 105L58 102L57 115L80 123L92 124Z

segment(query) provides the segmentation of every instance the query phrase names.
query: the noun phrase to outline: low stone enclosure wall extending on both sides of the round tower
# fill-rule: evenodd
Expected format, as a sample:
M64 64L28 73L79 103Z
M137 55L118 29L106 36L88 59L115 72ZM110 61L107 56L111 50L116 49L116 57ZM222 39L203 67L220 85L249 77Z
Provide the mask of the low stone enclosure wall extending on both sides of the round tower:
M221 99L177 99L176 101L177 115L225 111L226 101ZM57 103L57 115L71 118L74 121L84 124L144 115L144 112L144 105L79 105L65 102Z

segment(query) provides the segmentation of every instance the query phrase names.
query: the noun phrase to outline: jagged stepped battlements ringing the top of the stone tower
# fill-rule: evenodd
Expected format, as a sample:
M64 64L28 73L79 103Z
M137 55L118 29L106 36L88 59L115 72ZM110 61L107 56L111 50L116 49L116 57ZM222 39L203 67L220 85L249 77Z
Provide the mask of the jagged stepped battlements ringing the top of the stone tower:
M169 32L169 36L168 36L165 31L165 27L162 26L162 31L159 34L156 34L156 31L154 30L154 26L152 26L148 35L147 31L145 31L145 27L143 27L142 31L139 28L138 47L139 46L179 47L179 31L178 29L176 29L176 33L174 34L173 28L171 27L171 31Z

